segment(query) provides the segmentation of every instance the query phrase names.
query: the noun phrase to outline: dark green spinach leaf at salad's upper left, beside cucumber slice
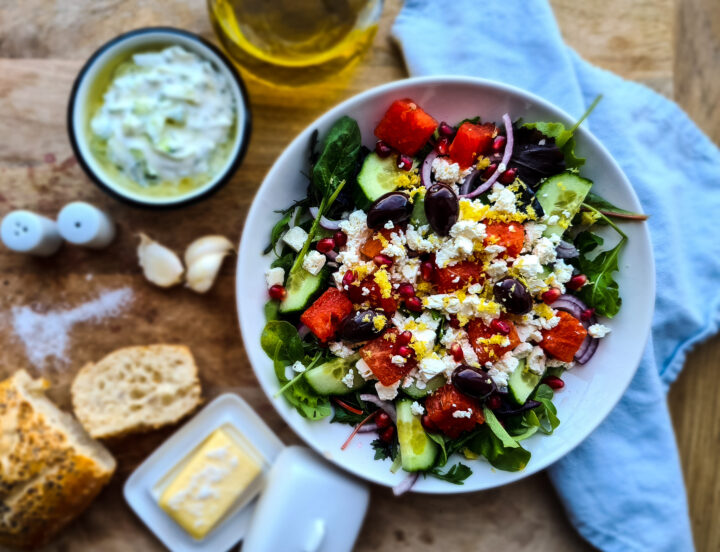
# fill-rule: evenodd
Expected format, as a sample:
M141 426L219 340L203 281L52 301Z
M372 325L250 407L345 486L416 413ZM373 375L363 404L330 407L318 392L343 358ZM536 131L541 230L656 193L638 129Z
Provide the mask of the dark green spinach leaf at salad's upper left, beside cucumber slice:
M323 143L323 149L312 168L313 186L327 197L347 182L356 168L360 152L360 127L355 119L341 117L332 126Z

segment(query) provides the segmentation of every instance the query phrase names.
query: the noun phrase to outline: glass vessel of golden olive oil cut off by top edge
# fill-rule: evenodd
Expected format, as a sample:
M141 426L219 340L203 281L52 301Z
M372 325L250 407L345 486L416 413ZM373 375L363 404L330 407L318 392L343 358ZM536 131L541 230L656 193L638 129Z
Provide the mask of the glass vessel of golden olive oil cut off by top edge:
M208 0L230 57L262 81L301 86L324 80L370 46L382 0Z

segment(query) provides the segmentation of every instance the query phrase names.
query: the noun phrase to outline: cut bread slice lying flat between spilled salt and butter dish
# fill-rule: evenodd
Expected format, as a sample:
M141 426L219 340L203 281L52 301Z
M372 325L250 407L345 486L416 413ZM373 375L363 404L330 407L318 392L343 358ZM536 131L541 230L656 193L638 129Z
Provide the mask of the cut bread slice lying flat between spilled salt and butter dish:
M84 366L71 392L75 415L96 439L175 423L201 402L195 359L183 345L118 349Z

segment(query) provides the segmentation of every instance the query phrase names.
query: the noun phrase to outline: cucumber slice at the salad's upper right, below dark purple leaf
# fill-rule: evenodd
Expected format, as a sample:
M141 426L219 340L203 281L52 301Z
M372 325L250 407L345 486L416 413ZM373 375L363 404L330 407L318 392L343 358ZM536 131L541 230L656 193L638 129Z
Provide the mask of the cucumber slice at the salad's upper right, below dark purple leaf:
M551 176L540 185L535 194L545 215L557 215L558 221L549 224L543 235L545 237L562 236L570 225L570 221L580 209L585 196L592 188L592 180L583 178L573 172Z

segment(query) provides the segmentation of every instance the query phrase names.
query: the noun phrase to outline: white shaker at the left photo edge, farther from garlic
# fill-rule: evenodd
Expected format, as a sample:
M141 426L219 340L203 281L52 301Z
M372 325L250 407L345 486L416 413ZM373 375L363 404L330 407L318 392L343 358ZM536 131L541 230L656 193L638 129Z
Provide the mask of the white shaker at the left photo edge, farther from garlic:
M8 249L40 257L52 255L62 245L54 220L22 209L5 216L0 237Z

